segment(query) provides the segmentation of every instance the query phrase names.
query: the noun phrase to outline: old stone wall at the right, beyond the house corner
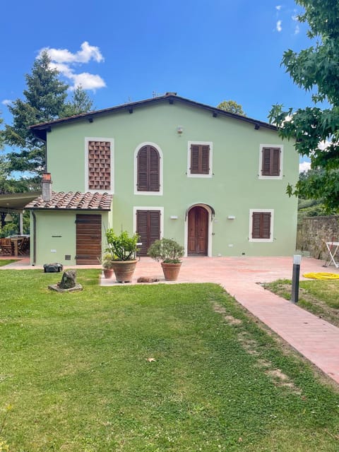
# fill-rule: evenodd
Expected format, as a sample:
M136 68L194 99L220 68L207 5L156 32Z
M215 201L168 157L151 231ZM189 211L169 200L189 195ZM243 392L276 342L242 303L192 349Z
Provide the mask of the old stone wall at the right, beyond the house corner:
M303 218L297 230L297 249L309 251L316 259L326 260L325 242L339 242L339 215Z

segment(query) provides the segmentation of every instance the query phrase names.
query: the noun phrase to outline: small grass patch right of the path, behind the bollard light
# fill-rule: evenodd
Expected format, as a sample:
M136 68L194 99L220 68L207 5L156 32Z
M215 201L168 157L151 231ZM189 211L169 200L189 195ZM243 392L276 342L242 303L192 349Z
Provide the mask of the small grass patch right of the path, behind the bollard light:
M280 297L291 299L290 280L276 280L265 287ZM339 280L300 281L298 306L339 327Z

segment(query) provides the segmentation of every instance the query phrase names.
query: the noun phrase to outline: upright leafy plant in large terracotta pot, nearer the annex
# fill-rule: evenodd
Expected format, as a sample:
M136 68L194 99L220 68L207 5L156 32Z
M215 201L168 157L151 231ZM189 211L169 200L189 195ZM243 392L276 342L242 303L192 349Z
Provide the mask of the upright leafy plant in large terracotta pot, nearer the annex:
M117 235L112 229L106 231L107 252L112 255L112 268L118 283L130 283L136 268L138 234L122 231Z

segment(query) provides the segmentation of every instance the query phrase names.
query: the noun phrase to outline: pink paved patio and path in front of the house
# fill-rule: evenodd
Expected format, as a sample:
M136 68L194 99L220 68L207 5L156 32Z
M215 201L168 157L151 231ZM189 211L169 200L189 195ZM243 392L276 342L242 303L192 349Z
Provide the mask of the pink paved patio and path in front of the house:
M78 268L100 268L79 266ZM29 265L27 258L6 268L42 268ZM76 268L71 266L70 268ZM302 258L302 273L339 273L333 266L323 268L323 261ZM132 284L139 276L158 278L165 283L160 263L150 258L138 262ZM339 328L319 319L297 305L272 294L258 283L292 278L292 257L184 258L177 283L218 283L258 319L290 343L325 374L339 383ZM301 277L301 279L304 279ZM120 285L101 280L102 285ZM175 284L175 283L168 283Z

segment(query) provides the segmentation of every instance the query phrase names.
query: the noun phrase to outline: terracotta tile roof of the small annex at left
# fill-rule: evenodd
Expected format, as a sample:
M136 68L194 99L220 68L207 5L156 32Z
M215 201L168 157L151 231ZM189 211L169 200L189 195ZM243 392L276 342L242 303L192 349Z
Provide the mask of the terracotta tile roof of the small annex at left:
M44 201L42 196L39 196L28 203L25 209L111 210L112 198L108 193L52 191L51 201Z

